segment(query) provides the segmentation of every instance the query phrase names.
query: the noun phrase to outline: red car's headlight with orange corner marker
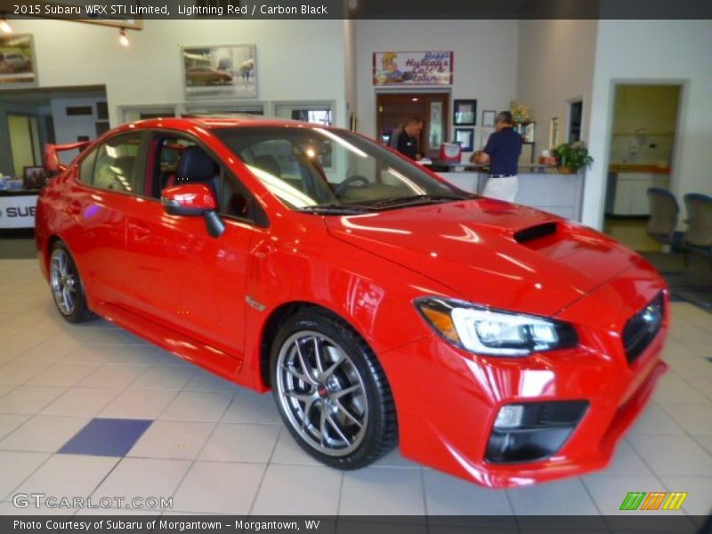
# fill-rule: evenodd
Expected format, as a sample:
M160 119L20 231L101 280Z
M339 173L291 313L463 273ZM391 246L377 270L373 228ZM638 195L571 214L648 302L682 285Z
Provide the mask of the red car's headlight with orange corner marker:
M444 298L421 298L418 311L442 337L476 354L526 356L578 344L568 323Z

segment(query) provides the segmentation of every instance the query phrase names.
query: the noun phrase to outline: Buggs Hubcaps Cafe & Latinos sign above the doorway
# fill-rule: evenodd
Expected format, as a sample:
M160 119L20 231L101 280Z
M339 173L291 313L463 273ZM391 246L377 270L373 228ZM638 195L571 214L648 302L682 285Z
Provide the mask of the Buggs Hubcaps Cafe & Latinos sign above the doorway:
M452 52L376 52L373 85L452 85Z

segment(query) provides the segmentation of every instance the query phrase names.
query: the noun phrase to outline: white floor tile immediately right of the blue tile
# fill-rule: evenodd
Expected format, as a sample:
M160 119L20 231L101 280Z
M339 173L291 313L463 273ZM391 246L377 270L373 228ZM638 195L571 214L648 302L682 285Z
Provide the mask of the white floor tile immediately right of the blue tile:
M154 421L126 456L192 459L213 427L214 423Z

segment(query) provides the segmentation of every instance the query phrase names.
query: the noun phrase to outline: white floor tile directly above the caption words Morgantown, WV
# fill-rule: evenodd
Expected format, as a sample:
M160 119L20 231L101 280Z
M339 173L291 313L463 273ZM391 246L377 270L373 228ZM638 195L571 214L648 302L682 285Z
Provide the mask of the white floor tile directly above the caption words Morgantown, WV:
M254 515L336 515L343 473L327 466L269 465Z

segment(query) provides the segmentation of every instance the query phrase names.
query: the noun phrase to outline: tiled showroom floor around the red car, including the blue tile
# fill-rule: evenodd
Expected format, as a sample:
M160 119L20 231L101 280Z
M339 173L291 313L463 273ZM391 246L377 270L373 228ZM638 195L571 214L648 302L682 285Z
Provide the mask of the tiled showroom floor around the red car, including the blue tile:
M2 260L0 514L37 513L12 498L44 493L173 497L171 513L599 515L618 513L629 491L655 490L688 492L684 513L708 514L712 314L673 303L672 317L671 372L608 469L486 490L397 452L356 472L319 465L295 446L271 395L105 321L63 322L36 261Z

